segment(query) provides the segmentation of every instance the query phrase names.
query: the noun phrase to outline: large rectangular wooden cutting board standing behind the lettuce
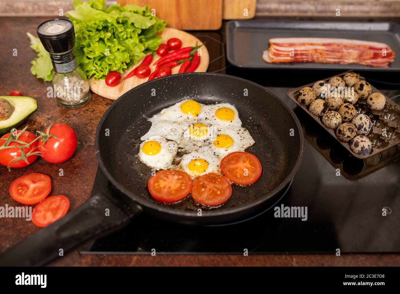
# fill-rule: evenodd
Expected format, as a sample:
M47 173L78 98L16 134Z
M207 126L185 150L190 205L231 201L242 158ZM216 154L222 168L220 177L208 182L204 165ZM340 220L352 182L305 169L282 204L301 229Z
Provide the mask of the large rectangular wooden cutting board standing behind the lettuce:
M167 26L181 30L219 30L222 0L118 0L121 6L149 5Z

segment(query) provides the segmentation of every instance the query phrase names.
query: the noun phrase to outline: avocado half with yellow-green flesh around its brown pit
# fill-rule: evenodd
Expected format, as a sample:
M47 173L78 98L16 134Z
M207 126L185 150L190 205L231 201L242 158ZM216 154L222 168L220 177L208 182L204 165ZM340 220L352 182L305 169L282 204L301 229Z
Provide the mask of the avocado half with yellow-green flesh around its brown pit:
M14 112L6 120L0 120L0 135L10 132L12 128L18 128L37 109L38 103L35 99L25 96L0 96L14 106Z

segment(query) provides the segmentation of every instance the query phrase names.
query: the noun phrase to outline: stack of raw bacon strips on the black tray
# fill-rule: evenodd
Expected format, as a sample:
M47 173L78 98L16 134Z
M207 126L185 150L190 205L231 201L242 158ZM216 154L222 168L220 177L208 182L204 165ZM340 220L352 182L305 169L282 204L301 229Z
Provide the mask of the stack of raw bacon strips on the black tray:
M389 67L396 52L388 44L338 38L272 38L262 54L268 63L319 62Z

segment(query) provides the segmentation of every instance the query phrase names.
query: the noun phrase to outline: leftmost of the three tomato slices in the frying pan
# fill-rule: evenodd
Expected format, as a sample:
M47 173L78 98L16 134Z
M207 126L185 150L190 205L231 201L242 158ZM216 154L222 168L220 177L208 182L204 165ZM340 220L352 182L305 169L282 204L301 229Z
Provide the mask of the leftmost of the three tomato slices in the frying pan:
M160 170L150 177L147 188L157 201L173 203L188 196L192 178L180 170Z

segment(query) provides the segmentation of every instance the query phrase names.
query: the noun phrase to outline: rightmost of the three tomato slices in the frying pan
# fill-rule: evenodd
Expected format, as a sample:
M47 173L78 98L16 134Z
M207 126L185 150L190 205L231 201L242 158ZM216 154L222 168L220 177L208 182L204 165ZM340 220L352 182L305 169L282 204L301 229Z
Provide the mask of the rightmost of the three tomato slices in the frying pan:
M222 158L221 171L231 182L250 185L256 182L262 172L258 158L248 152L232 152Z

